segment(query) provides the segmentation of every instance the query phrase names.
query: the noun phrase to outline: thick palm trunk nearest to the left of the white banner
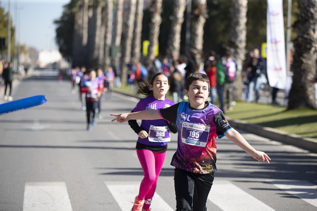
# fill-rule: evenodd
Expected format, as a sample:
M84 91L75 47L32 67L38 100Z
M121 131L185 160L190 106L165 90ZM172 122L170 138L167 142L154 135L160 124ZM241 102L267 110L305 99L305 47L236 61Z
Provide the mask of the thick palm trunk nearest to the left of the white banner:
M232 0L231 31L227 50L233 52L236 59L236 79L234 81L234 97L242 99L243 74L242 67L245 59L247 37L247 10L248 0Z

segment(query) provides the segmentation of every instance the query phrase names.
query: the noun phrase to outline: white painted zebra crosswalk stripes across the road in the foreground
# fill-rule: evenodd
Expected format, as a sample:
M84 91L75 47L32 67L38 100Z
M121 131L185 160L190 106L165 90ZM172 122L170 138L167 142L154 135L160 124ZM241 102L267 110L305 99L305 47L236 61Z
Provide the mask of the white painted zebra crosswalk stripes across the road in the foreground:
M317 210L316 185L307 181L298 180L266 180L268 183L286 194L293 195L298 200L303 200ZM135 195L139 191L139 182L132 181L105 181L105 186L122 211L131 210ZM174 193L166 193L173 195ZM165 193L164 193L165 195ZM173 195L174 196L174 195ZM166 195L165 195L166 197ZM211 188L208 200L224 211L248 211L248 210L275 210L254 197L246 190L241 189L229 180L217 180ZM164 197L157 192L154 194L152 210L171 211L175 210L175 204L168 204ZM23 211L72 211L65 182L38 182L25 183ZM107 210L107 209L105 209Z

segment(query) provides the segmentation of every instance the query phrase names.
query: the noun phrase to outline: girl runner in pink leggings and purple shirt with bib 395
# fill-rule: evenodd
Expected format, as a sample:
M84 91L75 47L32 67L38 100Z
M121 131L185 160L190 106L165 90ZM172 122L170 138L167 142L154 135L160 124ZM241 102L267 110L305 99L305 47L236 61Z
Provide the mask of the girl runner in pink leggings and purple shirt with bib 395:
M132 112L163 109L174 105L174 102L165 98L169 88L168 78L163 73L154 75L150 85L141 82L139 93L144 94L146 98L141 99ZM142 120L141 126L136 120L129 120L128 123L139 136L136 149L144 171L139 195L135 197L132 211L149 211L156 182L165 160L167 142L171 140L170 131L176 133L177 128L175 124L169 124L163 119Z

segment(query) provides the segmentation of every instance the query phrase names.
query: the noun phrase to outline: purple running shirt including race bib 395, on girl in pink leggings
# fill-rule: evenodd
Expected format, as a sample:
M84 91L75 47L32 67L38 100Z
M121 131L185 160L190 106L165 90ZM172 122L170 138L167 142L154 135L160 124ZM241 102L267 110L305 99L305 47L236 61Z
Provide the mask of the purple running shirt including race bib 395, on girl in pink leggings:
M163 109L165 104L169 104L172 106L175 103L167 98L165 98L165 100L157 100L154 98L154 96L148 96L143 99L140 99L140 101L132 110L132 112L138 112L138 111L143 111L147 109ZM133 121L129 120L130 126L132 122ZM150 131L151 125L152 125L152 129ZM136 130L134 131L136 133L139 133L141 130L145 130L149 134L149 137L150 139L152 139L152 141L150 141L149 138L141 139L139 137L138 143L142 145L150 145L150 146L165 146L167 142L164 142L164 140L165 138L166 140L168 140L167 137L170 137L170 133L169 133L169 130L164 132L164 129L162 128L166 127L167 125L168 125L168 122L164 119L142 120L141 126L138 129L138 131ZM158 128L155 128L155 127L158 127Z

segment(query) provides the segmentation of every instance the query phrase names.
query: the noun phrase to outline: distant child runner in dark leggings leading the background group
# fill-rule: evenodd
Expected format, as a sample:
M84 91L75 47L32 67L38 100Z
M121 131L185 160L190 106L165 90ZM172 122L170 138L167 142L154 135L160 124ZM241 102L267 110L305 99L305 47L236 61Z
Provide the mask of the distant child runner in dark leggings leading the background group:
M90 115L93 114L92 125L96 125L95 113L103 86L99 84L94 70L88 73L88 80L84 82L81 92L86 92L87 130L91 131Z

